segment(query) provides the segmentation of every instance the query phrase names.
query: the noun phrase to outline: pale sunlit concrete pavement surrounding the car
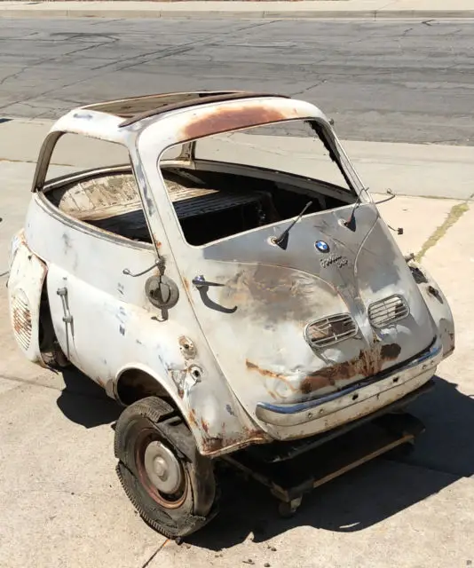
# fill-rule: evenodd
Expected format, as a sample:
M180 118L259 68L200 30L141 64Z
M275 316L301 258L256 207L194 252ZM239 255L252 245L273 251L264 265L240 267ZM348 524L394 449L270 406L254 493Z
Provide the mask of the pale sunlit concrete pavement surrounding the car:
M21 120L0 124L0 229L8 229L0 233L2 250L25 215L33 162L48 127L49 122ZM469 197L470 148L441 148L437 155L430 146L402 145L397 150L397 145L351 145L359 152L355 157L348 148L356 166L367 169L367 183L418 193L380 206L391 226L404 226L405 233L395 238L406 252L421 250L451 209ZM87 163L84 152L85 147L75 147L60 156L56 167ZM385 160L382 170L375 156ZM439 163L443 156L444 165ZM420 197L433 193L437 180L432 170L438 168L441 175L444 167L453 168L452 179L466 179L462 193L453 195L454 185L445 184L447 199ZM415 402L415 414L427 425L415 453L404 461L377 460L320 488L291 520L276 516L274 502L260 487L229 478L220 517L180 547L149 529L122 493L114 472L115 403L78 373L51 374L20 356L6 317L1 278L2 568L470 565L473 226L474 209L469 209L424 256L453 308L457 350L438 369L437 388Z

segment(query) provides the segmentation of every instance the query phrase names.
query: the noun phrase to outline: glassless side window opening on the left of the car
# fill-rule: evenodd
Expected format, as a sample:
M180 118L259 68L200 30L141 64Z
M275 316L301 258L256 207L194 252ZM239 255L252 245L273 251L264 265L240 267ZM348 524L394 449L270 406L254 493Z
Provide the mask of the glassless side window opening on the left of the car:
M132 241L151 242L125 146L63 134L45 179L45 198L70 217Z

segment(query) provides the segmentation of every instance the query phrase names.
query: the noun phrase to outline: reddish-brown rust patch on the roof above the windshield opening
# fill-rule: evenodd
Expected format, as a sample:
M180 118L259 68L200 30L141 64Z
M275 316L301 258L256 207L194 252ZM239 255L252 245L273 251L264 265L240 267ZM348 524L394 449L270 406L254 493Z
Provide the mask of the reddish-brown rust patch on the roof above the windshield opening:
M262 101L242 106L217 106L208 114L186 124L186 127L178 132L178 139L192 140L297 117L296 111L283 112L281 109L265 105Z

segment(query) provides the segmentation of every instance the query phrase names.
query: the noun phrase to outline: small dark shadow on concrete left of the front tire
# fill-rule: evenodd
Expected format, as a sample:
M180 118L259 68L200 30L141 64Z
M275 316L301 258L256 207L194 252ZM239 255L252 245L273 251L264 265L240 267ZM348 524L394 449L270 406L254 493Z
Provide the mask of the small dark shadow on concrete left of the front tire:
M71 366L62 369L65 388L57 400L59 410L68 420L84 428L115 422L122 412L99 384Z

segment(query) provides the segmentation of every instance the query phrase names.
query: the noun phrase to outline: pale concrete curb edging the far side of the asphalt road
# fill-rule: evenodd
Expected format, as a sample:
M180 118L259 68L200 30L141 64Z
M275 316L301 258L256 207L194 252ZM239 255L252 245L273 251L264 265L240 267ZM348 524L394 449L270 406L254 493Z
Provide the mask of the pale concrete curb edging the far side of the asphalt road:
M0 18L107 18L107 19L268 19L268 20L390 20L390 19L418 19L418 20L457 20L474 19L474 9L468 10L360 10L360 11L332 11L332 10L144 10L144 9L61 9L61 8L12 8L2 9L0 4Z

